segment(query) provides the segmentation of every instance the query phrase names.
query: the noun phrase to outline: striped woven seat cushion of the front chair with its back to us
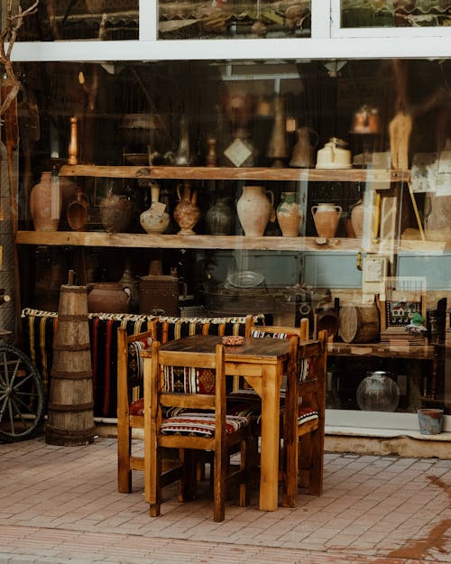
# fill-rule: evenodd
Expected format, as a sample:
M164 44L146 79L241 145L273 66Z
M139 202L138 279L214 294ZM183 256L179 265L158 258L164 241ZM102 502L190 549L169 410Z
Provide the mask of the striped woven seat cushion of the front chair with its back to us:
M242 430L250 423L250 418L244 415L226 415L226 434L231 435ZM161 435L185 435L212 439L215 436L215 414L197 411L185 412L162 421L160 432Z

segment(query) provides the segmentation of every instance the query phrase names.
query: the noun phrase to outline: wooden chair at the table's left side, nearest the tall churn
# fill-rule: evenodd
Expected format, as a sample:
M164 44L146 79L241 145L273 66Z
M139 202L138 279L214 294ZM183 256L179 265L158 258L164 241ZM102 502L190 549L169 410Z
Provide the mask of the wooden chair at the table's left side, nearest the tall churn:
M117 489L132 491L132 471L144 470L144 458L132 454L133 429L144 429L143 362L140 350L150 347L155 325L143 333L127 335L117 329Z

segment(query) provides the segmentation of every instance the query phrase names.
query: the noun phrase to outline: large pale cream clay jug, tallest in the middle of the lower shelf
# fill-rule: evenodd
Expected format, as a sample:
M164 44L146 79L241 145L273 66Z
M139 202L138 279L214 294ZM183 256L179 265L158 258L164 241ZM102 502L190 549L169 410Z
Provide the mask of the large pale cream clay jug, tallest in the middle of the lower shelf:
M271 201L267 198L269 194ZM243 194L236 203L236 211L244 235L262 236L272 215L274 196L262 186L244 186Z

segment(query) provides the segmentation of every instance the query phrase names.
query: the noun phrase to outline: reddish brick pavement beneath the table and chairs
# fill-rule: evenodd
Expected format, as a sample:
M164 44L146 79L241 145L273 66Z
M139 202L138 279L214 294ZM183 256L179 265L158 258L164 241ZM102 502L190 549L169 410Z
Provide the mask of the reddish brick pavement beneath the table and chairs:
M207 496L174 494L159 518L142 473L118 494L115 439L0 444L0 564L451 563L451 460L327 454L321 497L262 513L255 489L221 523Z

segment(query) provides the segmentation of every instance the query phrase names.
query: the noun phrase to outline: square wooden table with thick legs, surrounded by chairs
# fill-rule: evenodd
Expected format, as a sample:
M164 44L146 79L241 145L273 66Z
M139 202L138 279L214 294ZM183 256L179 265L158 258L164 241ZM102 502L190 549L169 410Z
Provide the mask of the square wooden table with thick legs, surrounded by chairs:
M162 350L212 352L221 337L193 335L175 339ZM275 511L278 506L280 390L288 360L290 339L244 338L243 346L225 347L226 374L244 376L262 398L260 458L260 509ZM143 350L143 370L151 370L151 352ZM144 417L147 411L144 410Z

